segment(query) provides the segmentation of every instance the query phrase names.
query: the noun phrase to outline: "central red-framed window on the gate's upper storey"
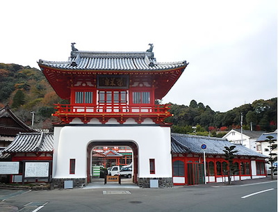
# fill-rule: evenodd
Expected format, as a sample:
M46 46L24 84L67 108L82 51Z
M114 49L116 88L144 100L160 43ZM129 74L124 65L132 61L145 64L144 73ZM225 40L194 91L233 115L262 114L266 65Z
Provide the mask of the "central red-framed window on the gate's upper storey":
M108 104L126 104L126 91L118 90L100 90L99 91L99 103Z

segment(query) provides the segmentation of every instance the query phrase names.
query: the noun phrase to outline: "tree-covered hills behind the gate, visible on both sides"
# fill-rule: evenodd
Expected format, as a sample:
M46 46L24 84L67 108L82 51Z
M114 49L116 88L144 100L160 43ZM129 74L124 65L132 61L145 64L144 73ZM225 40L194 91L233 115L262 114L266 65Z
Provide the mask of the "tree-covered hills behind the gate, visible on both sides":
M35 112L34 128L50 129L58 122L54 104L67 104L51 88L42 72L36 68L17 64L0 63L0 108L8 104L12 111L27 125L31 126ZM222 137L229 129L240 128L243 115L243 129L275 131L277 129L277 97L258 99L252 104L244 104L230 111L213 111L201 102L190 101L189 106L170 104L167 118L172 123L172 132L195 133L198 135Z

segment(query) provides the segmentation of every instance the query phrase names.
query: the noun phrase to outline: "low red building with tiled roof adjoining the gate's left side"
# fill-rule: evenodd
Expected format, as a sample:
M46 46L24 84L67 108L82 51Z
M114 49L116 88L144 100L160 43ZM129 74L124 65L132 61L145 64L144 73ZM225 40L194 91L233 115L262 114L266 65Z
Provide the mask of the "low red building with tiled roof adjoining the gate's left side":
M0 154L1 161L7 161L5 157L8 156L8 161L19 163L19 173L11 174L10 183L49 182L53 151L53 133L18 133L15 140ZM27 166L28 168L26 168ZM45 168L47 170L44 170ZM38 175L31 177L28 175L34 173L38 173ZM42 178L40 177L42 173L47 173L47 175Z

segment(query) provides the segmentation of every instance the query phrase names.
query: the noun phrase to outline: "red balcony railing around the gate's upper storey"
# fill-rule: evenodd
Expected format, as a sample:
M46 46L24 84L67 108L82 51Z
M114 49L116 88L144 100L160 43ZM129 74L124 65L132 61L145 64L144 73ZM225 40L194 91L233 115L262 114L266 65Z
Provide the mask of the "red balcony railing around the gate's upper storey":
M149 117L158 123L163 122L165 117L171 116L168 104L152 106L55 104L55 106L57 111L54 115L67 123L74 117L81 118L84 123L89 122L93 117L98 118L102 123L107 122L111 117L115 117L120 123L129 117L133 117L138 123Z

